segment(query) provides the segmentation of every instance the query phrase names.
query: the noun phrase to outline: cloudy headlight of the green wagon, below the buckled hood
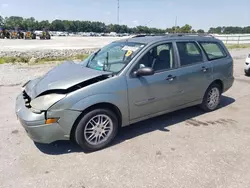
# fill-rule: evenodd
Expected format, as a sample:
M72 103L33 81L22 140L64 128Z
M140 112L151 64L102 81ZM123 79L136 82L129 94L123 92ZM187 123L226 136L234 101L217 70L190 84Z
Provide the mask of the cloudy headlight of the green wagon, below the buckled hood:
M30 102L33 111L48 110L53 104L62 100L66 95L64 94L48 94L35 98Z

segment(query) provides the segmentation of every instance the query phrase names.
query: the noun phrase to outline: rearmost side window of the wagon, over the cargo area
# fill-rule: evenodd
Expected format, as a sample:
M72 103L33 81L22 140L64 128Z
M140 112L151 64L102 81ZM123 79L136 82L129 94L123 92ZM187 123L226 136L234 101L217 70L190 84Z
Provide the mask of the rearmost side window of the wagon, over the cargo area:
M215 42L200 42L200 45L204 49L208 60L215 60L224 58L227 56L220 44Z

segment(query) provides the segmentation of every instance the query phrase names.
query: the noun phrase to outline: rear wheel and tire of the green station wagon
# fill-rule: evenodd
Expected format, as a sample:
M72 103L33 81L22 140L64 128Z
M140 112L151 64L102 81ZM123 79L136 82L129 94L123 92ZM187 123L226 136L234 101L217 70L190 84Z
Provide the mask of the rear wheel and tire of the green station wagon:
M211 102L211 99L209 97L211 96L211 92L214 92L214 103ZM201 109L204 110L205 112L211 112L214 111L218 108L220 104L220 99L221 99L221 93L222 93L222 88L219 84L213 83L211 84L207 91L205 92L205 95L203 97L203 101L200 105Z

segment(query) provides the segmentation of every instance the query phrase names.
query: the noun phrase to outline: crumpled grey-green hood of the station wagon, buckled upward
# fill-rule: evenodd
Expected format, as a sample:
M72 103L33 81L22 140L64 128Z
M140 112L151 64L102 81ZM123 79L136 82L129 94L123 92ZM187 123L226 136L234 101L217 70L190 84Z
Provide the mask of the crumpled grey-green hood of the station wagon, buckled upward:
M43 77L30 81L26 87L26 93L31 99L48 90L66 90L79 83L109 73L89 69L74 62L65 62L50 70Z

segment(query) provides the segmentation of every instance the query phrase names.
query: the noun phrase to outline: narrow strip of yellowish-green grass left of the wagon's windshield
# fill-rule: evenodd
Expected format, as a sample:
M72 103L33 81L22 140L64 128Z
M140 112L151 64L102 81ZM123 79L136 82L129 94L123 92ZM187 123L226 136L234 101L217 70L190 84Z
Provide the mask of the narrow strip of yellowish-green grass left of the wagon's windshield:
M84 60L88 57L87 54L78 54L70 57L45 57L40 59L33 59L31 57L0 57L0 64L3 63L29 63L29 64L40 64L50 62L61 62L70 60Z

